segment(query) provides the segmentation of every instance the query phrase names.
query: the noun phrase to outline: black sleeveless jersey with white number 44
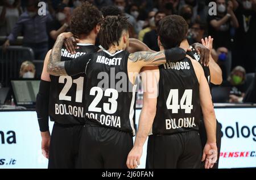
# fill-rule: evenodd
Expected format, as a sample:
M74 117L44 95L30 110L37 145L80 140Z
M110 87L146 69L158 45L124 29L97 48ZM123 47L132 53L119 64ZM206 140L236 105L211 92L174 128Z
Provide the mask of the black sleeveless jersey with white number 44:
M199 130L199 82L189 58L159 66L159 96L152 127L154 135Z

